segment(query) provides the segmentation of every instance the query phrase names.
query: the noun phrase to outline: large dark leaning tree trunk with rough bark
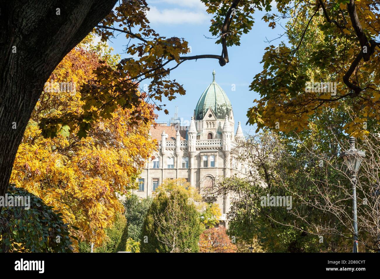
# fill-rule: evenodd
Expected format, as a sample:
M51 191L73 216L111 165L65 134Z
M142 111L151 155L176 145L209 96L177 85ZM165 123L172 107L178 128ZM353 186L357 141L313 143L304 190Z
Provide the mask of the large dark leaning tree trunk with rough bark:
M44 83L116 1L0 0L0 195Z

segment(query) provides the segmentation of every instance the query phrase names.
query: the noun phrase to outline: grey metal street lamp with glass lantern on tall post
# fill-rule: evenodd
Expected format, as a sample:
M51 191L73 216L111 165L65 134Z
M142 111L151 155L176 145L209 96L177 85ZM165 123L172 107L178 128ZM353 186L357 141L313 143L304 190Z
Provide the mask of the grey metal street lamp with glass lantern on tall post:
M360 151L355 148L355 137L350 137L350 149L346 152L340 154L346 163L348 170L351 172L351 186L352 186L352 203L353 203L353 227L354 227L354 243L353 243L353 253L358 252L358 219L356 216L356 173L359 170L361 161L366 156L365 151Z

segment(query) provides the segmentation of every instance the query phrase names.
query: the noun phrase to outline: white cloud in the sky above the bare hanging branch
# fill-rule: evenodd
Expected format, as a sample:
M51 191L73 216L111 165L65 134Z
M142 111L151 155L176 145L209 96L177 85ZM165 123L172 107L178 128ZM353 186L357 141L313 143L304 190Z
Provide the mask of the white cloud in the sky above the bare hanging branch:
M152 23L163 24L201 24L210 20L204 11L189 11L184 9L158 10L154 6L150 7L146 16Z

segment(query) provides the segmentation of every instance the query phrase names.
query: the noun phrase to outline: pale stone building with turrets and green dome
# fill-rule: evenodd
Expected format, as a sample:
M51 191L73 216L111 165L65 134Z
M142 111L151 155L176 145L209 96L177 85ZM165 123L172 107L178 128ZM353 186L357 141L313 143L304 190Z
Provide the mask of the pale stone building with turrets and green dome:
M139 178L139 197L152 194L158 185L167 178L185 178L193 187L202 188L213 183L214 178L230 177L242 170L236 160L234 147L244 139L240 122L237 124L231 102L226 93L215 81L199 98L188 126L181 126L177 115L169 124L158 124L150 129L152 139L158 141L158 151L152 154L155 159L146 163ZM177 113L177 112L176 112ZM222 212L222 222L229 210L230 198L211 199L218 203Z

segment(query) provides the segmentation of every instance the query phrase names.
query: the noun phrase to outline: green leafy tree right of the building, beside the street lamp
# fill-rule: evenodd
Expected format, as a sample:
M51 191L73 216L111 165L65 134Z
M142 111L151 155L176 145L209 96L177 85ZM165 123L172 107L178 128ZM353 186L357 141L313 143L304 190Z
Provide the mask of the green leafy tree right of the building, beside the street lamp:
M240 143L236 153L249 170L246 177L225 178L205 191L205 195L231 193L233 199L227 213L229 235L235 236L238 243L252 244L257 238L257 244L268 252L337 251L337 244L344 251L344 247L348 247L344 245L347 235L342 233L348 231L333 213L316 210L298 198L310 201L320 194L318 182L326 168L318 167L320 162L308 150L314 148L316 154L328 151L325 141L318 136L308 135L304 146L292 137L280 137L269 131ZM329 158L328 154L323 154L323 158L325 156ZM336 157L332 158L331 162L335 162ZM341 178L334 171L328 175L332 183ZM342 197L337 188L330 194L337 199ZM274 200L284 197L289 203L263 203L268 196ZM314 222L330 224L336 230L331 233L326 226L318 230L312 225Z

